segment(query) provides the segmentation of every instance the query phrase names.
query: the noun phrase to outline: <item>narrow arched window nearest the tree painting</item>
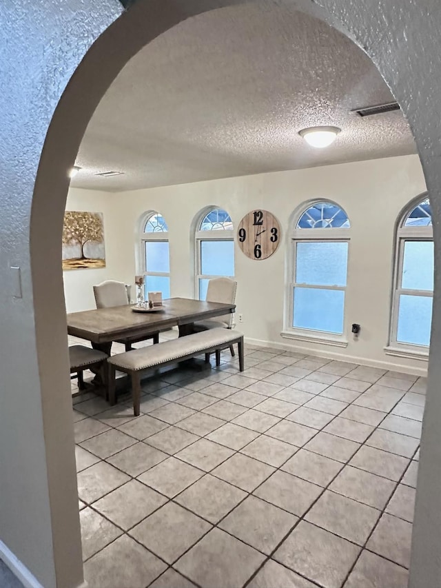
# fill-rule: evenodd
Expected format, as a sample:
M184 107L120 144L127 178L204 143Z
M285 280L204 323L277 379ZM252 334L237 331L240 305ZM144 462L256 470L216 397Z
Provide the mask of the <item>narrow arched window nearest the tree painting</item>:
M150 212L143 219L141 252L145 298L147 292L162 292L163 298L170 298L168 227L159 212Z

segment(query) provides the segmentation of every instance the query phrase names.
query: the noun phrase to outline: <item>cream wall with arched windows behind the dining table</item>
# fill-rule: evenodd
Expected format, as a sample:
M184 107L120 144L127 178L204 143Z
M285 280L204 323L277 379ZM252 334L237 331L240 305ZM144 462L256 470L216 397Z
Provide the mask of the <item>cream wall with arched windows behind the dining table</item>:
M225 208L234 225L255 208L276 215L283 232L276 253L265 261L247 258L236 243L237 312L240 329L254 342L309 349L370 365L423 372L427 362L387 356L393 274L394 228L402 208L426 190L418 156L360 161L322 168L274 172L216 181L103 194L71 190L71 210L104 213L107 267L76 270L66 275L68 311L94 307L92 283L105 277L133 283L136 273L134 243L139 217L147 210L163 214L170 230L172 296L194 296L194 253L190 227L207 205ZM291 341L280 336L285 302L285 264L289 247L289 217L311 199L331 199L342 205L351 221L346 348ZM82 208L79 206L83 204ZM73 208L72 208L73 207ZM87 274L87 275L86 275ZM78 292L79 290L88 292ZM358 338L351 323L360 323Z

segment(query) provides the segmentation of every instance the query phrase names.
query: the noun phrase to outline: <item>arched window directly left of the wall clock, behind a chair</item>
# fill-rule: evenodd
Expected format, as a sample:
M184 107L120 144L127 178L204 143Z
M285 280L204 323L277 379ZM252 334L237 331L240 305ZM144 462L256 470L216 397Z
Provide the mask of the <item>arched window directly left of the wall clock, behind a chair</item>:
M205 300L210 278L234 277L234 227L228 212L205 210L195 238L196 296Z

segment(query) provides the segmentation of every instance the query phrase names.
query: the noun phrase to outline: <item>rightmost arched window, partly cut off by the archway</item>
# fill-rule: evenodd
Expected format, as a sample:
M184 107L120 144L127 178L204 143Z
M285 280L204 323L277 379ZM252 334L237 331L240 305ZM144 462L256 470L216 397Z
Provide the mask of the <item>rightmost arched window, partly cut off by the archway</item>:
M433 228L429 198L413 203L397 230L391 345L429 347L433 301Z

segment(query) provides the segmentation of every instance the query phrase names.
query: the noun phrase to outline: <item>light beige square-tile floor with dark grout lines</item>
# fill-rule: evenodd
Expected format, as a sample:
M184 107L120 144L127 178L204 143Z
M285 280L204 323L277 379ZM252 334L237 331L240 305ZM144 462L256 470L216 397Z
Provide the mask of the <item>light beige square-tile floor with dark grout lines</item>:
M245 353L74 398L90 588L406 587L424 378Z

